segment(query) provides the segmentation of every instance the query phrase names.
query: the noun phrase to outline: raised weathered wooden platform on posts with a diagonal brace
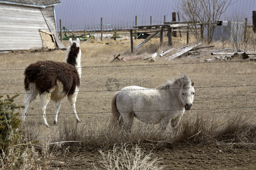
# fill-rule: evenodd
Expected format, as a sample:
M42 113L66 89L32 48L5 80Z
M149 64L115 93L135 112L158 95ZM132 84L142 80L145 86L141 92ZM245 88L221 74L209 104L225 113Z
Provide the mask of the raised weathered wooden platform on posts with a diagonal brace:
M191 22L180 22L180 21L172 21L172 22L164 22L163 24L159 25L145 25L145 26L133 26L131 29L127 29L130 31L130 38L131 38L131 52L133 53L134 50L137 50L139 47L141 47L143 44L148 42L151 38L153 38L155 35L160 33L160 43L163 42L163 32L168 32L168 45L172 46L172 29L173 31L187 31L187 45L188 45L188 27ZM200 23L196 23L196 25L200 25ZM186 29L180 29L180 28L186 28ZM150 30L150 31L149 31ZM135 31L135 32L133 32ZM138 32L140 31L140 32ZM139 43L137 46L133 47L133 34L136 36L138 34L145 34L145 33L152 33L149 35L146 39L144 39L141 43Z

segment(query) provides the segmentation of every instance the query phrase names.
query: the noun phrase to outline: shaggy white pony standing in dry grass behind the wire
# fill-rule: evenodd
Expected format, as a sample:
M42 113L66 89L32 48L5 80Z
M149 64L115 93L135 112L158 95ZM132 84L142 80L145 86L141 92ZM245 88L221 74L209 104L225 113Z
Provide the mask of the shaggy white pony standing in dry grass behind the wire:
M185 110L192 107L194 82L184 73L182 77L168 80L156 89L128 86L115 93L112 102L112 123L127 131L133 118L144 123L160 123L162 130L171 122L175 130Z

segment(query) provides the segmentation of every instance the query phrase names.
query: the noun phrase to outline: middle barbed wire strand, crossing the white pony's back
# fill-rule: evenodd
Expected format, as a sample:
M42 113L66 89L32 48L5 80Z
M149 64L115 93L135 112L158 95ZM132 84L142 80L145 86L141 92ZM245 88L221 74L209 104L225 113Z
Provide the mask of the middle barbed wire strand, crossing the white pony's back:
M191 88L229 88L229 87L247 87L247 86L256 86L256 85L233 85L233 86L208 86L208 87L191 87ZM124 87L125 88L125 87ZM161 90L162 88L144 88L144 89L116 89L116 90L86 90L86 91L63 91L63 92L34 92L34 93L81 93L81 92L113 92L113 91L129 91L129 90ZM183 89L183 88L166 88L166 89ZM0 95L7 95L7 94L26 94L26 93L0 93ZM33 93L27 93L33 94Z

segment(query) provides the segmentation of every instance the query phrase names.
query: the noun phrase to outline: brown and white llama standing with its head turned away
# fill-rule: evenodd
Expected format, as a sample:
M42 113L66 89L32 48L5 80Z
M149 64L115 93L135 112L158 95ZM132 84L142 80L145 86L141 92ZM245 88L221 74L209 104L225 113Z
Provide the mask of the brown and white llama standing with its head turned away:
M77 122L81 122L76 112L77 94L81 77L81 50L79 39L72 42L67 48L66 62L38 61L30 64L24 71L24 85L26 94L24 96L25 109L22 114L22 122L25 121L29 104L38 95L40 96L39 109L43 116L43 123L49 127L46 121L45 109L50 100L55 102L54 124L57 123L57 116L60 110L60 100L68 97L68 104L74 112Z

